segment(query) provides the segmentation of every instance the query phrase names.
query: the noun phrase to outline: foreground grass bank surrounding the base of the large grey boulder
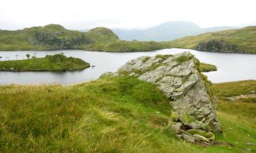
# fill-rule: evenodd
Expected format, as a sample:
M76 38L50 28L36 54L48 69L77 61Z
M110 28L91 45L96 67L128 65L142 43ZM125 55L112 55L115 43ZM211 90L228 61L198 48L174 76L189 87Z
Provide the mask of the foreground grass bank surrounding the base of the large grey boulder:
M226 105L225 103L223 105ZM243 107L243 106L242 106ZM0 86L1 152L255 152L255 125L224 106L218 116L233 146L195 146L168 126L171 107L134 77L75 86ZM244 112L249 114L249 112Z

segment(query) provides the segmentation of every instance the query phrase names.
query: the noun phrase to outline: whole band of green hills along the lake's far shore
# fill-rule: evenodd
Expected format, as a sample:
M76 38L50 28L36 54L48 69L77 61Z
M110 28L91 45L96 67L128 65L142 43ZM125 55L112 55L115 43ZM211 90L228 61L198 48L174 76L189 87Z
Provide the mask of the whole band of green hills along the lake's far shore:
M0 30L0 50L66 50L139 52L187 48L212 52L256 53L256 27L205 33L173 41L124 41L104 27L71 31L58 24L17 31Z

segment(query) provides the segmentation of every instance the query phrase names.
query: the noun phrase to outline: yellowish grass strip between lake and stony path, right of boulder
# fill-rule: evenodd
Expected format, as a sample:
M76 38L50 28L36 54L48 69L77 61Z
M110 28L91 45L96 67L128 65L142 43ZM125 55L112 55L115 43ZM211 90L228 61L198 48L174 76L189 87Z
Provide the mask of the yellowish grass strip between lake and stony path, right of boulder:
M256 93L256 80L225 82L213 84L213 92L217 97L233 97Z

